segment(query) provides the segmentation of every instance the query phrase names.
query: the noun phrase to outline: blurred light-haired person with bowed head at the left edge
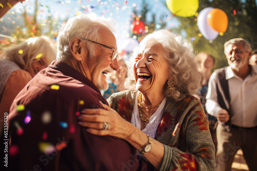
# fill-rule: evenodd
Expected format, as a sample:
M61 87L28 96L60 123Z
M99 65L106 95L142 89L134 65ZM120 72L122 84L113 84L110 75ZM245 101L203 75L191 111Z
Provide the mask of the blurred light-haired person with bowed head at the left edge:
M4 113L9 112L16 95L55 58L52 41L46 36L29 38L0 56L0 133Z

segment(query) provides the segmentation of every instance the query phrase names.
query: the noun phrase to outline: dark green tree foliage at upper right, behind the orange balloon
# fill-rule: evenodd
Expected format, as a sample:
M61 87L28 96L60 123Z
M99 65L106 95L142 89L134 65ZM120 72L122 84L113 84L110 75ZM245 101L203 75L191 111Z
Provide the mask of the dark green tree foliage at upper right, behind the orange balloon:
M186 32L186 38L195 38L192 41L195 53L206 51L216 58L216 68L227 66L227 59L224 54L224 43L232 38L241 37L246 39L253 49L257 49L257 8L254 0L199 0L198 13L204 8L212 7L223 10L228 16L228 29L223 36L218 35L216 39L209 42L204 36L198 36L200 33L197 27L197 18L175 16L180 22L180 26L173 29L173 32ZM236 14L234 14L234 10Z

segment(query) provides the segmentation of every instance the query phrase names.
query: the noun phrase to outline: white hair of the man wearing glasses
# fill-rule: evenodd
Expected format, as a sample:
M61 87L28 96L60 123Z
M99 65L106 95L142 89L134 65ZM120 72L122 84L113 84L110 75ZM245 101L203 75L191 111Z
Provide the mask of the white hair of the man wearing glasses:
M68 19L58 31L57 60L64 61L70 56L69 42L75 37L83 37L93 41L99 41L99 29L106 27L115 32L118 25L115 19L97 16L95 13L80 14ZM94 46L88 46L90 55L94 55Z

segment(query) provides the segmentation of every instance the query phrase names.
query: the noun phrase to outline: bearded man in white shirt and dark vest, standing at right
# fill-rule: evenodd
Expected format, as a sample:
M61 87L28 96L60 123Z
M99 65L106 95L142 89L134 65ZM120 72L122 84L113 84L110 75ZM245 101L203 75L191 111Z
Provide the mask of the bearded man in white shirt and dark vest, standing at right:
M250 44L234 38L224 44L229 66L214 71L206 96L207 112L218 119L216 170L231 170L242 148L250 170L257 168L257 66L248 65Z

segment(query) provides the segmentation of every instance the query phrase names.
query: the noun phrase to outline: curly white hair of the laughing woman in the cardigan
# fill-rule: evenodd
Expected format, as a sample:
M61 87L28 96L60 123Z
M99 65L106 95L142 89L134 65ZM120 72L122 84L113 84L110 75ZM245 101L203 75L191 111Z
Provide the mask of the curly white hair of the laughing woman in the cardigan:
M149 41L161 44L164 50L164 58L170 66L170 85L166 82L165 94L176 101L182 100L187 95L193 95L200 87L202 73L198 72L192 44L180 36L168 30L156 30L144 37L139 47ZM133 58L137 56L135 48Z

